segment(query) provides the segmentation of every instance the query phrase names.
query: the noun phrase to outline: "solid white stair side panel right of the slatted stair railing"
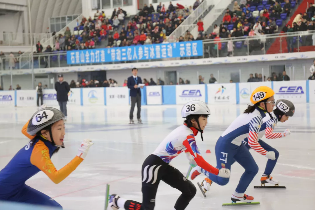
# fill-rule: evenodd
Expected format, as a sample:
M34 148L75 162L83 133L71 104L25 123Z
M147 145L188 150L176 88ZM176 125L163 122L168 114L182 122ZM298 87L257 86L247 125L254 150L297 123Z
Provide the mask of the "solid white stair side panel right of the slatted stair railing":
M232 0L221 0L216 2L214 8L203 18L203 29L207 31L215 20L226 10L227 6L232 3Z

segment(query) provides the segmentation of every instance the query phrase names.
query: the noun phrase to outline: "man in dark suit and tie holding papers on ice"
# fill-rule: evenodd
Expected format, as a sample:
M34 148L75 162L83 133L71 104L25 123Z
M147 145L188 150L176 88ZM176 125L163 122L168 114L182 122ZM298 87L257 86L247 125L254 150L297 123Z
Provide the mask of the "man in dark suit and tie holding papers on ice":
M141 78L138 77L138 69L137 68L133 68L131 70L132 72L132 76L128 77L128 81L127 81L127 86L130 89L130 97L131 97L131 109L130 109L130 115L129 115L129 119L130 119L130 123L134 123L134 109L135 109L135 105L137 103L137 119L138 119L138 123L142 123L141 121L141 116L140 116L140 111L141 111L141 91L140 91L140 87L138 87L139 84L142 83ZM141 87L143 88L143 86Z

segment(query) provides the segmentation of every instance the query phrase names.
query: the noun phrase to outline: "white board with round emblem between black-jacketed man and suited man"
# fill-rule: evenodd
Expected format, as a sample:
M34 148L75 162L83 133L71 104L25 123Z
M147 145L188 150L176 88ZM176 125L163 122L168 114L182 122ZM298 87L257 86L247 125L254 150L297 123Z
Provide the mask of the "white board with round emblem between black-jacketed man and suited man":
M83 106L104 105L104 88L83 88Z

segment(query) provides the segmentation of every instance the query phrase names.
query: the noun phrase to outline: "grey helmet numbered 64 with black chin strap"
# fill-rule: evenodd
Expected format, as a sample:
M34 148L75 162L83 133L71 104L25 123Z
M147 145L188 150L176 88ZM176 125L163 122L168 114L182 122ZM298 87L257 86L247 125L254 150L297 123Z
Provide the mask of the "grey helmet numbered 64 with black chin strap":
M31 117L27 126L27 133L33 136L36 133L38 133L40 130L64 118L65 118L65 115L58 109L55 109L52 107L45 107L43 109L40 109L37 112L35 112L35 114ZM61 146L56 145L54 143L54 139L53 139L50 127L49 127L49 134L50 134L50 138L53 145L64 148L63 143Z

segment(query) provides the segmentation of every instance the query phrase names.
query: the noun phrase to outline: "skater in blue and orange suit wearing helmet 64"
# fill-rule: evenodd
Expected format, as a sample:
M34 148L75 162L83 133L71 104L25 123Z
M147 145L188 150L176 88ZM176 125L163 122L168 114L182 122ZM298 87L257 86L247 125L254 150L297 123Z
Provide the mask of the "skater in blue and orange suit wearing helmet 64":
M30 204L60 207L49 196L27 186L26 180L43 171L55 184L72 173L86 157L90 139L83 140L78 155L59 171L50 158L64 148L65 115L59 110L44 107L38 110L23 127L22 133L31 141L24 146L0 171L0 201L15 201Z

